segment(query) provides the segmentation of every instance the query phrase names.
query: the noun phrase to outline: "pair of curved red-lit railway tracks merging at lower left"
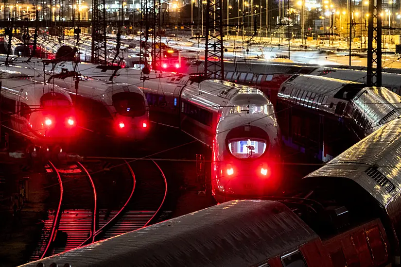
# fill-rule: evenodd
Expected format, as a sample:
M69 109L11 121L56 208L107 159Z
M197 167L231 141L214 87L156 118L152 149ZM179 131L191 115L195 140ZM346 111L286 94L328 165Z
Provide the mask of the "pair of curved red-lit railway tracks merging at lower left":
M107 171L92 170L79 162L45 166L58 180L60 197L48 210L31 261L137 230L165 216L160 211L167 181L157 163L113 164Z

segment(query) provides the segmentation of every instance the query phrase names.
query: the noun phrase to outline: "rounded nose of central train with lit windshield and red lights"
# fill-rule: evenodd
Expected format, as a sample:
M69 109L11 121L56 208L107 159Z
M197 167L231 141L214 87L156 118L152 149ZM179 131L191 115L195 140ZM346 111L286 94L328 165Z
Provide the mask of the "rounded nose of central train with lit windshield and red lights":
M271 102L240 90L223 108L213 141L211 189L217 202L269 196L281 184L280 132Z

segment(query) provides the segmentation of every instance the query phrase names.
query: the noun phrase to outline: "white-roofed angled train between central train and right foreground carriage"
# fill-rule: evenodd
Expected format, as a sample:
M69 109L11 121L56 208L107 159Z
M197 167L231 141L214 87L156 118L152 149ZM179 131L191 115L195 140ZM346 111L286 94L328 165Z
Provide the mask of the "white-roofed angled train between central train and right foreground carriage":
M385 87L296 74L282 83L277 112L285 144L323 162L401 115Z

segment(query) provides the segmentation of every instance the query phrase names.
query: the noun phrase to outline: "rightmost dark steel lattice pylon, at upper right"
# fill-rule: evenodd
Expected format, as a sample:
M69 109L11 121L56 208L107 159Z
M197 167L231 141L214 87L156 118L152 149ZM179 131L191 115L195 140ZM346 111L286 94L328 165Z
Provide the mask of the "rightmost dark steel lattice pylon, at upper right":
M382 86L382 0L369 0L367 85ZM376 41L376 48L373 47ZM376 67L374 67L376 65Z

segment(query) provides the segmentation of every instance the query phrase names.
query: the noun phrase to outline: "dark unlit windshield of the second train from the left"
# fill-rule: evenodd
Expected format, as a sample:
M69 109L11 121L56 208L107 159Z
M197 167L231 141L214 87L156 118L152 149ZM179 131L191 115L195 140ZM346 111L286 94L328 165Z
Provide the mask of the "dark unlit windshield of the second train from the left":
M112 96L113 105L118 114L126 117L145 115L145 100L141 94L122 92Z

